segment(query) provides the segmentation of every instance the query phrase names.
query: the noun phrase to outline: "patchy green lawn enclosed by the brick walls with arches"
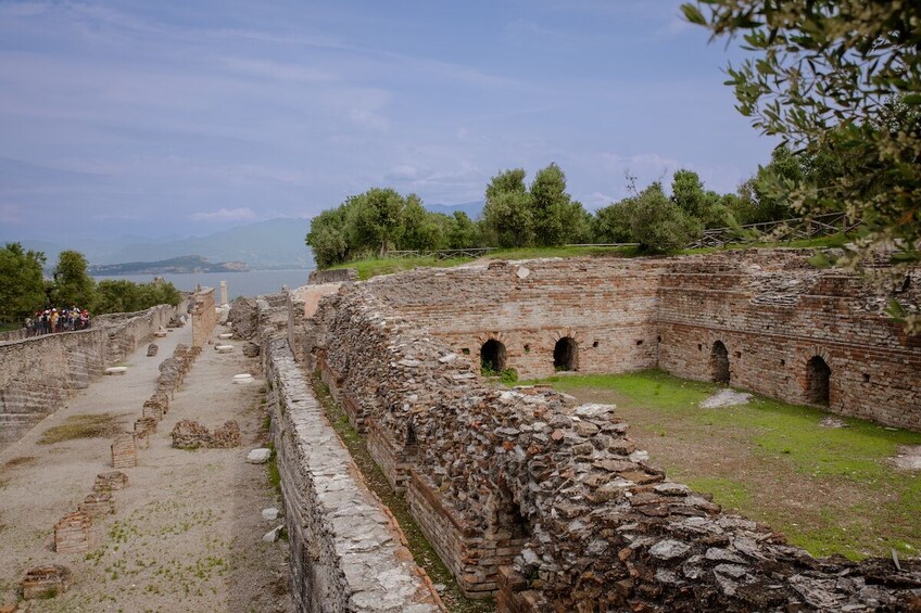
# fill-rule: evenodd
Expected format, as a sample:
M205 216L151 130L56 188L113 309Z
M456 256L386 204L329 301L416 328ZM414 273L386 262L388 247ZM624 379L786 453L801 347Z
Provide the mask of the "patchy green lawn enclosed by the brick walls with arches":
M555 376L581 401L613 403L651 462L674 481L709 491L728 510L769 524L817 557L921 554L921 471L887 459L921 433L762 396L748 405L702 409L712 383L661 371Z

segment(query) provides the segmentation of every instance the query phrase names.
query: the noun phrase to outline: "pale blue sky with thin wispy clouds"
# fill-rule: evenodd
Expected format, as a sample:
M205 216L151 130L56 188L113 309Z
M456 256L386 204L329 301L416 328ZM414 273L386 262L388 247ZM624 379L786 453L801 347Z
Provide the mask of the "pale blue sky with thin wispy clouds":
M774 143L708 38L679 0L0 0L0 240L457 204L550 163L590 210L628 173L733 192Z

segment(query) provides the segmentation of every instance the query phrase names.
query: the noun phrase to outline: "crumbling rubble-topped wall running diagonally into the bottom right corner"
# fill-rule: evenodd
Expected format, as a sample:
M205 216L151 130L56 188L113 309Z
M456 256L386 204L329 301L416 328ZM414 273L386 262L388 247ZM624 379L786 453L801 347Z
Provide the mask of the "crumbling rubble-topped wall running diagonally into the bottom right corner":
M350 419L373 452L395 448L378 451L391 483L429 488L430 501L411 508L430 540L442 555L463 554L445 562L468 590L502 584L506 610L921 605L918 561L816 560L669 482L614 407L488 387L365 288L325 301L314 323L318 361ZM401 461L380 461L388 452ZM449 520L430 519L440 513ZM519 545L499 577L503 553Z

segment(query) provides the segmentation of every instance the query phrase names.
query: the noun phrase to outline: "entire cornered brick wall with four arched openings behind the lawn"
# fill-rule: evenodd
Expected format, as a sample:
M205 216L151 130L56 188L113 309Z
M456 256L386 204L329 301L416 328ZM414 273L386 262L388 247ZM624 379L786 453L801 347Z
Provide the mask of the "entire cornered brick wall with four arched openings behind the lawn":
M906 336L883 312L892 295L856 274L816 269L808 255L496 261L365 285L475 368L499 347L502 368L522 378L658 367L714 380L719 341L733 386L921 430L921 336ZM916 304L918 277L908 283ZM558 363L564 342L575 357ZM820 397L810 362L831 370Z

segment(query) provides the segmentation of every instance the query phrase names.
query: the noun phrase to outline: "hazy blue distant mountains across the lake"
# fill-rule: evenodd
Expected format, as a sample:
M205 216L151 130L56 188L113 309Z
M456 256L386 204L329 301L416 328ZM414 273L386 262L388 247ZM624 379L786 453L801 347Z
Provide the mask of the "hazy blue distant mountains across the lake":
M20 242L26 248L45 252L48 266L53 267L58 254L65 250L83 253L91 266L123 263L159 263L194 254L210 263L245 263L250 270L313 268L314 259L304 237L310 219L279 218L240 226L207 237L152 240L136 237L98 240L30 241L4 238L3 242Z

